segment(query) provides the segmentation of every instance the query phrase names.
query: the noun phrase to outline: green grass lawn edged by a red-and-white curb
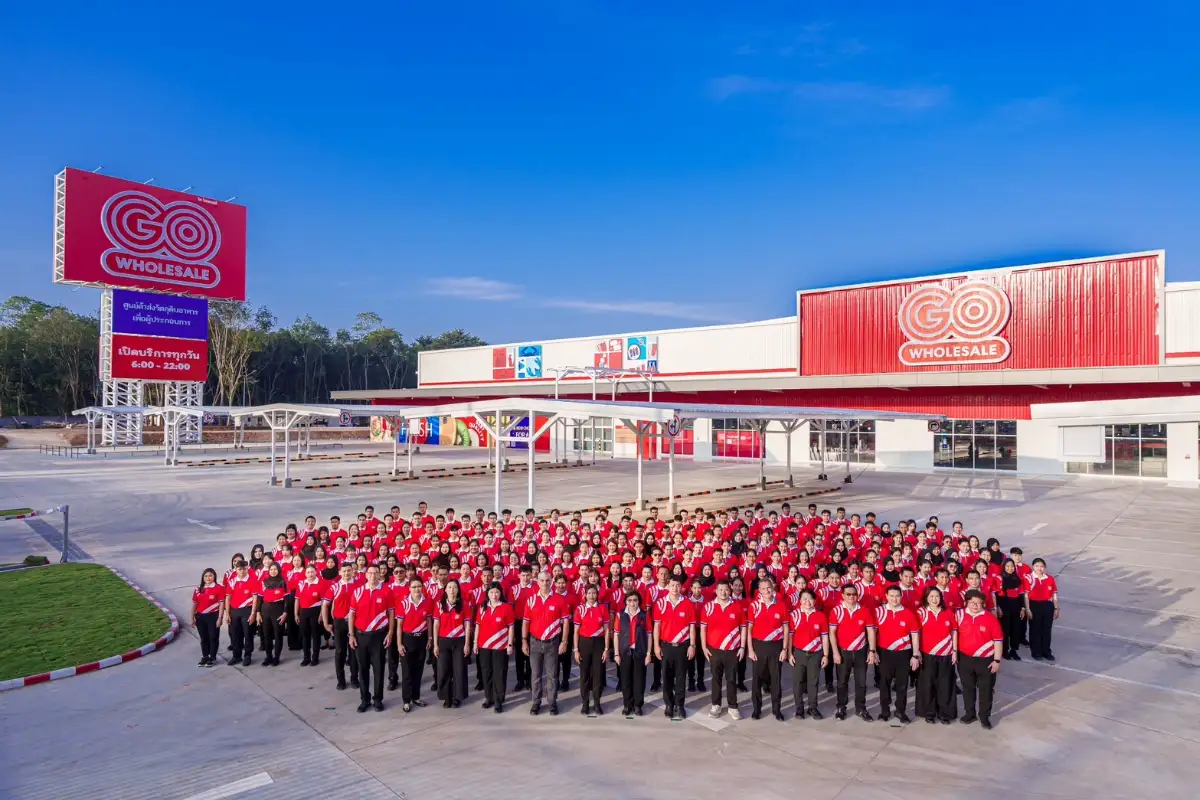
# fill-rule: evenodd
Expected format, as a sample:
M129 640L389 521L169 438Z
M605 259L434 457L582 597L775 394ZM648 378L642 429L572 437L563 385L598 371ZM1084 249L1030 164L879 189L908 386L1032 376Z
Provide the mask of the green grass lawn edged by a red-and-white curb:
M0 573L0 680L120 655L170 621L96 564Z

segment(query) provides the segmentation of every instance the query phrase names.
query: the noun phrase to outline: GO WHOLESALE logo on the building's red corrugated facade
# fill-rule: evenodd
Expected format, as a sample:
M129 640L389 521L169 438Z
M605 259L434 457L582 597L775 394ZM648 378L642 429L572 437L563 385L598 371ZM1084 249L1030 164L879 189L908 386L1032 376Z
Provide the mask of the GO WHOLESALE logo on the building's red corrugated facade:
M917 289L900 305L900 330L908 339L900 345L900 361L910 367L1000 363L1012 351L1000 336L1012 313L1008 294L991 283Z

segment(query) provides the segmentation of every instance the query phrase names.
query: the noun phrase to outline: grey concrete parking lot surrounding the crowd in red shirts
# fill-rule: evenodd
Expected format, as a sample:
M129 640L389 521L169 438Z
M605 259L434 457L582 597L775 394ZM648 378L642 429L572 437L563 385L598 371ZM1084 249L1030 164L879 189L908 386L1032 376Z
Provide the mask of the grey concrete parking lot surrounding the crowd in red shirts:
M373 463L390 465L390 452ZM467 463L482 464L484 453L426 452L414 465ZM683 492L757 476L755 465L678 467ZM632 469L601 462L540 473L538 506L630 500ZM311 477L329 474L329 465L295 470ZM780 477L776 471L768 477ZM476 476L280 489L268 487L265 475L263 464L167 470L149 456L0 451L0 507L70 503L78 557L121 569L186 619L202 569L220 571L230 553L269 543L287 522L307 513L344 518L366 504L407 511L421 499L434 510L490 509L493 487L491 477ZM797 480L797 491L817 486L806 468ZM506 505L523 509L526 475L505 476L504 492ZM647 495L665 493L665 464L648 465ZM716 507L755 497L684 504ZM482 712L478 693L457 710L431 704L404 715L392 696L384 714L358 715L355 698L335 691L331 663L300 669L284 652L277 669L202 670L188 630L148 658L0 696L0 796L191 799L239 789L236 796L293 799L1196 796L1200 493L1129 481L856 468L854 483L816 501L875 511L882 521L961 519L1006 548L1022 546L1027 558L1045 557L1063 596L1057 664L1004 662L990 733L835 722L824 694L821 722L713 721L698 696L679 723L661 714L590 720L578 714L575 692L557 718L529 717L527 693L511 697L511 712L502 716ZM52 552L56 521L35 523L0 523L0 561ZM611 692L605 708L614 711ZM743 697L743 710L748 703Z

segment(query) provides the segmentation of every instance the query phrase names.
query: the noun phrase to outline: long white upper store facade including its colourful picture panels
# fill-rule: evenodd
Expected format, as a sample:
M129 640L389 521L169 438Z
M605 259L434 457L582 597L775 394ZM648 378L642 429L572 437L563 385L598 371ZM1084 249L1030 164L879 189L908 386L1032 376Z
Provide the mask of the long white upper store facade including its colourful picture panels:
M632 344L631 344L632 342ZM630 348L644 347L648 357L630 359ZM649 369L665 378L712 375L794 374L797 371L796 318L768 319L736 325L712 325L677 330L613 333L542 342L518 342L460 350L431 350L418 356L418 380L424 387L466 384L553 381L554 369L612 366ZM529 356L526 377L505 374L506 359L520 360L522 351L540 353L540 363ZM636 355L643 355L637 353ZM520 365L514 363L515 372Z

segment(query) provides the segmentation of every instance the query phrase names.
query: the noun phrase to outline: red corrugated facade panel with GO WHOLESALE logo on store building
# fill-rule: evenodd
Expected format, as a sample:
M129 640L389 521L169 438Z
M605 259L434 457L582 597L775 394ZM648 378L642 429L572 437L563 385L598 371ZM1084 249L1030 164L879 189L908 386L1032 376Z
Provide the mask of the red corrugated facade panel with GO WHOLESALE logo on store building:
M799 294L800 374L1162 362L1163 254Z

